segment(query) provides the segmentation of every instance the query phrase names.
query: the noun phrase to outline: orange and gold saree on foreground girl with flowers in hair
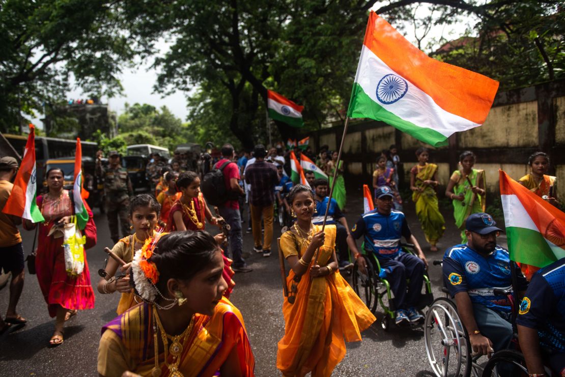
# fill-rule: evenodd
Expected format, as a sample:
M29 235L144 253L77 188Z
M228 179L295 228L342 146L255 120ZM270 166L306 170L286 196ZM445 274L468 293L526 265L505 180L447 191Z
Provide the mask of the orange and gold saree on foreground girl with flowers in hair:
M155 367L153 314L151 305L140 304L129 309L102 328L98 348L98 372L112 377L132 371L141 376L153 376ZM223 297L214 315L196 314L192 332L182 344L179 371L185 377L214 376L236 347L241 375L254 376L255 360L240 311ZM159 344L158 363L161 377L171 375Z

